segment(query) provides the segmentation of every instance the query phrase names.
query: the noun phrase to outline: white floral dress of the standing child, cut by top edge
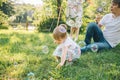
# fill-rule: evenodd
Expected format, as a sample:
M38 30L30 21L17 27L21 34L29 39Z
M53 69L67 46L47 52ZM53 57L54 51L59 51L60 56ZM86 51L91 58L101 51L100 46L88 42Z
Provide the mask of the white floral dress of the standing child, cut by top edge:
M67 0L66 24L70 27L82 25L82 0Z

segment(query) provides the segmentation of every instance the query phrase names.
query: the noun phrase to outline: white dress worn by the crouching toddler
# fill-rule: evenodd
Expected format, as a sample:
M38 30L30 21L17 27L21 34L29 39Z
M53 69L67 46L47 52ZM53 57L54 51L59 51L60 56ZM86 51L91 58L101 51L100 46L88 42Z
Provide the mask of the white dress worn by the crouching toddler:
M68 47L66 60L68 60L71 55L72 55L72 59L80 57L80 54L81 54L80 46L77 45L70 37L68 37L62 44L57 46L57 48L55 49L53 55L61 57L62 48L64 46Z

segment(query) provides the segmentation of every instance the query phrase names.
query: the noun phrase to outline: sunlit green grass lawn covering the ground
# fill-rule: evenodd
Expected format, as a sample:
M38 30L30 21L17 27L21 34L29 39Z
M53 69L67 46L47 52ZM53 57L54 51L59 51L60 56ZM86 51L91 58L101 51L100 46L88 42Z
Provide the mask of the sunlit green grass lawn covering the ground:
M84 36L79 35L83 40ZM48 46L49 53L42 51ZM0 80L120 80L120 45L99 53L87 52L72 66L55 69L51 33L0 31Z

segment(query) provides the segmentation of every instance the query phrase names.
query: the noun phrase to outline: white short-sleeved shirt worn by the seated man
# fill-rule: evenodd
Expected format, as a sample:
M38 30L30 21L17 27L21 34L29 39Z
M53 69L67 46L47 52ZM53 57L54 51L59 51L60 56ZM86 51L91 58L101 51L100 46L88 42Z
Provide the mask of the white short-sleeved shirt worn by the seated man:
M105 26L103 35L111 47L120 43L120 16L114 17L112 13L106 14L99 24Z

